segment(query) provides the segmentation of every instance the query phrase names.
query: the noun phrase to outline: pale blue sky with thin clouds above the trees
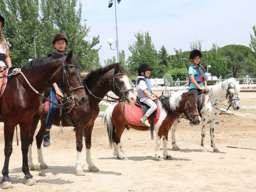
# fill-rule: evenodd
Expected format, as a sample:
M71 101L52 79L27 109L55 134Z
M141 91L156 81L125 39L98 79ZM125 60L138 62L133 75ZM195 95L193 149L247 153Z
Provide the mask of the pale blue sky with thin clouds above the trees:
M82 20L91 27L89 39L100 36L101 65L116 56L107 44L116 40L115 4L108 8L108 0L82 0ZM255 0L122 0L116 3L119 51L126 59L131 53L129 44L136 40L134 33L149 32L156 50L162 45L169 54L174 48L190 50L190 43L202 40L202 50L215 43L249 46L252 27L256 25ZM113 45L115 47L115 45Z

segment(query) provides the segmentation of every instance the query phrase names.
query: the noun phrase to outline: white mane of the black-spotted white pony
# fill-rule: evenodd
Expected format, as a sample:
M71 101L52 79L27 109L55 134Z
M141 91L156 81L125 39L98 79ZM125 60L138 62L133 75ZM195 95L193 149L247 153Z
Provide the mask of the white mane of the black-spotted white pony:
M239 93L240 87L239 87L239 83L236 81L236 78L229 78L220 84L213 85L213 87L210 88L210 90L209 90L209 95L211 97L214 97L216 95L223 94L224 92L226 92L226 90L228 88L228 84L232 84L232 83L235 84L235 92Z

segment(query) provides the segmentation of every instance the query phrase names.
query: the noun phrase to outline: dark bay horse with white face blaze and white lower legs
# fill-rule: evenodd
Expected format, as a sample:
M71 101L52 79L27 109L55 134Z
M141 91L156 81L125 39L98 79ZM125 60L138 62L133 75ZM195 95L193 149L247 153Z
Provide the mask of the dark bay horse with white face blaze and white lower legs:
M130 87L128 75L128 71L125 70L121 63L115 63L105 68L98 68L95 71L91 71L87 76L84 77L83 85L87 86L88 88L85 89L86 94L88 95L86 105L80 108L73 108L72 111L68 113L76 127L76 175L85 175L81 166L83 130L85 133L86 162L88 164L88 169L92 172L99 171L99 169L92 163L91 159L92 128L94 125L94 121L100 112L98 104L100 103L101 98L103 98L110 90L116 95L119 95L119 97L123 97L123 101L125 99L126 103L128 102L128 104L133 104L135 101L135 96L132 91L133 89L131 89ZM130 92L129 90L132 92ZM30 170L35 169L32 160L31 146L33 143L33 136L35 134L36 126L39 119L41 121L41 127L38 134L36 135L37 155L38 161L40 163L40 168L47 168L47 165L43 159L41 148L45 132L45 121L47 117L47 114L44 112L44 105L45 103L41 102L39 110L34 116L32 129L29 135L28 165ZM53 124L59 126L60 117L56 116ZM70 126L65 121L65 119L62 119L62 125Z

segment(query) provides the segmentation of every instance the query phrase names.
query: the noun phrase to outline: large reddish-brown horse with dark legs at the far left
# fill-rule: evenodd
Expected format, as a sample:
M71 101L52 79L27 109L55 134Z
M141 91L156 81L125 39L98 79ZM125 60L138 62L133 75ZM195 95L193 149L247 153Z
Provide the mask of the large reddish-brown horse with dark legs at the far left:
M67 57L44 57L34 59L21 68L21 73L8 77L5 91L0 98L1 114L4 119L4 167L1 188L11 188L9 178L9 160L12 154L12 140L14 128L20 125L20 139L22 151L22 171L25 174L26 185L36 183L28 169L28 137L33 116L39 107L39 95L32 90L29 84L39 93L43 93L53 83L57 83L68 95L73 94L75 102L82 106L87 96L82 86L80 65L77 61L79 54L72 57L73 51ZM9 74L15 71L9 69ZM25 80L28 80L28 82ZM64 79L63 79L64 78ZM83 89L82 89L83 88ZM73 93L74 90L74 93Z

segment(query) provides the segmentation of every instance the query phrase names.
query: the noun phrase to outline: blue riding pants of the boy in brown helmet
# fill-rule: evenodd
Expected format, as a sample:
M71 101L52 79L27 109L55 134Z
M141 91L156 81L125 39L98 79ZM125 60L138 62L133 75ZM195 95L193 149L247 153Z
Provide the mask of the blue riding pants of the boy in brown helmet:
M59 87L59 89L60 89L60 92L62 92L62 89L60 87ZM55 93L53 86L50 87L50 100L54 103L59 102L56 98L56 93ZM46 118L46 127L45 127L46 129L52 128L52 123L54 121L57 109L58 109L57 105L53 105L52 103L50 104L49 112L48 112L47 118Z

